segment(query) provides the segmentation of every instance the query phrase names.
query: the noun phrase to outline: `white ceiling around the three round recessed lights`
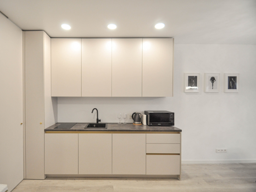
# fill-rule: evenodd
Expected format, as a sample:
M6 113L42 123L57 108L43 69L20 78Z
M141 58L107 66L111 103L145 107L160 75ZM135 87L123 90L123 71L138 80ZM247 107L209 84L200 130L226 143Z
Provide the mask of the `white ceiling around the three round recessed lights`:
M256 44L256 0L0 0L22 30L51 37L174 37L182 44ZM163 22L163 29L155 29ZM71 29L62 29L61 24ZM115 30L107 25L114 23Z

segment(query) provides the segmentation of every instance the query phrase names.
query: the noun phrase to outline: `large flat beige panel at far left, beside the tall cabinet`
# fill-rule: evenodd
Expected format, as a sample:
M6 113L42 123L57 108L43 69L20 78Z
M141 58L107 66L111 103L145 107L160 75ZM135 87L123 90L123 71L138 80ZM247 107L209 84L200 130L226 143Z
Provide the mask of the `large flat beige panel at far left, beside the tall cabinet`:
M22 31L0 14L0 183L23 179Z

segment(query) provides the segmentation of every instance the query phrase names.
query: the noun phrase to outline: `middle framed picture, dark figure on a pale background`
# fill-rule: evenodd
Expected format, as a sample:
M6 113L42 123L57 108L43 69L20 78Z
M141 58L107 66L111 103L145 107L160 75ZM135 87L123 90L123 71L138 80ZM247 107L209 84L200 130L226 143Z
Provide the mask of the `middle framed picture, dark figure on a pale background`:
M205 73L204 74L204 92L219 92L220 90L220 74Z

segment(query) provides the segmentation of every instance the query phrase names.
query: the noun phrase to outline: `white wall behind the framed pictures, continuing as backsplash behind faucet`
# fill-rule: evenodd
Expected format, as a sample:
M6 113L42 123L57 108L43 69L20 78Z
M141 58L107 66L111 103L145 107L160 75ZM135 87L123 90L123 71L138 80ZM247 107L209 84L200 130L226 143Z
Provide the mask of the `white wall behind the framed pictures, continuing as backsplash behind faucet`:
M118 122L117 112L168 110L182 129L183 163L256 162L256 45L175 44L174 50L174 97L58 97L58 122L96 122L93 108L102 122ZM200 73L199 93L183 91L185 72ZM204 92L204 73L220 73L219 93ZM223 92L224 73L240 74L238 93Z

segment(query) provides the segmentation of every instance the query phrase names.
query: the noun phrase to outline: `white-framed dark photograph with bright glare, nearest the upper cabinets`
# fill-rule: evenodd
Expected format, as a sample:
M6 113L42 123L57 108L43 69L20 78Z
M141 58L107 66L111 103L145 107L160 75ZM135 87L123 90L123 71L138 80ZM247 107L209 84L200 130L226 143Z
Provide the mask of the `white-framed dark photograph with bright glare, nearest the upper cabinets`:
M185 92L199 92L199 73L185 73Z

